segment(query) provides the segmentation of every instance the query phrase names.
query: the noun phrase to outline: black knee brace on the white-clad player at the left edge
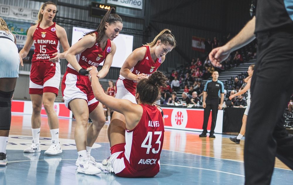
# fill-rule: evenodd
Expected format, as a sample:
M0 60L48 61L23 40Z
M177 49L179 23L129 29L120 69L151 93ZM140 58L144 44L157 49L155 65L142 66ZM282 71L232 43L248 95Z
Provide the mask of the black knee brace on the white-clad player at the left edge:
M11 124L11 98L13 91L0 90L0 130L10 130Z

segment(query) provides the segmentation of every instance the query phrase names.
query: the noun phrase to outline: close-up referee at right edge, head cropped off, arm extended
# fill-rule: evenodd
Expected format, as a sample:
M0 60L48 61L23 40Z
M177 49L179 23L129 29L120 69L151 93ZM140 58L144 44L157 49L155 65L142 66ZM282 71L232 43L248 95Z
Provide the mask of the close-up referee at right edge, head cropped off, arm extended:
M219 66L232 51L257 37L244 167L245 184L263 185L270 184L275 156L293 169L293 135L282 117L293 92L293 2L257 0L255 5L255 16L227 44L213 49L209 58Z

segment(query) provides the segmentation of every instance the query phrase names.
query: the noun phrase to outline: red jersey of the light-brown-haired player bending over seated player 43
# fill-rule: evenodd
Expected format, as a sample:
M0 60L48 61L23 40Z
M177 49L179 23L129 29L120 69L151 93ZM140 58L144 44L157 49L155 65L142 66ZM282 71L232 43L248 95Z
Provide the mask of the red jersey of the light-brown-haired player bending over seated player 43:
M153 59L151 59L151 53L149 51L149 46L142 46L142 47L147 48L147 52L144 56L144 59L137 62L137 64L132 69L130 69L130 71L135 75L140 74L140 73L144 73L147 76L151 76L151 74L154 73L155 71L157 71L157 69L160 67L162 60L160 57L156 60L156 62L154 62ZM122 80L125 79L122 75L120 75L119 78ZM132 83L134 84L134 89L135 89L137 81L133 81L133 80L130 80L130 81L132 81Z

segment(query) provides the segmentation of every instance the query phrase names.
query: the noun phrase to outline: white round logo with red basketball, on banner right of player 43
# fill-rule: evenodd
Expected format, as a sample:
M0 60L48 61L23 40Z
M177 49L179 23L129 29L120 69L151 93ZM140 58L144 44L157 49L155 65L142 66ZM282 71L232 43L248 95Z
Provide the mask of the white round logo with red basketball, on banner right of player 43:
M173 109L171 114L171 124L175 129L184 129L187 125L187 112L185 109Z

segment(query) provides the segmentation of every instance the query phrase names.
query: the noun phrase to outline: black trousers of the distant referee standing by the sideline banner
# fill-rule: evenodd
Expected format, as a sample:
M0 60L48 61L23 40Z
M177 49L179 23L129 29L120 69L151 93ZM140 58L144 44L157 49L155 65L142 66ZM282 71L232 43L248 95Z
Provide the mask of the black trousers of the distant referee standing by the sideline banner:
M212 110L212 125L211 125L211 131L209 133L214 133L215 127L216 127L216 121L217 121L217 115L218 115L218 108L219 108L219 99L216 100L206 100L206 107L204 109L203 113L203 125L202 129L203 132L207 133L207 121L209 121L209 114Z

